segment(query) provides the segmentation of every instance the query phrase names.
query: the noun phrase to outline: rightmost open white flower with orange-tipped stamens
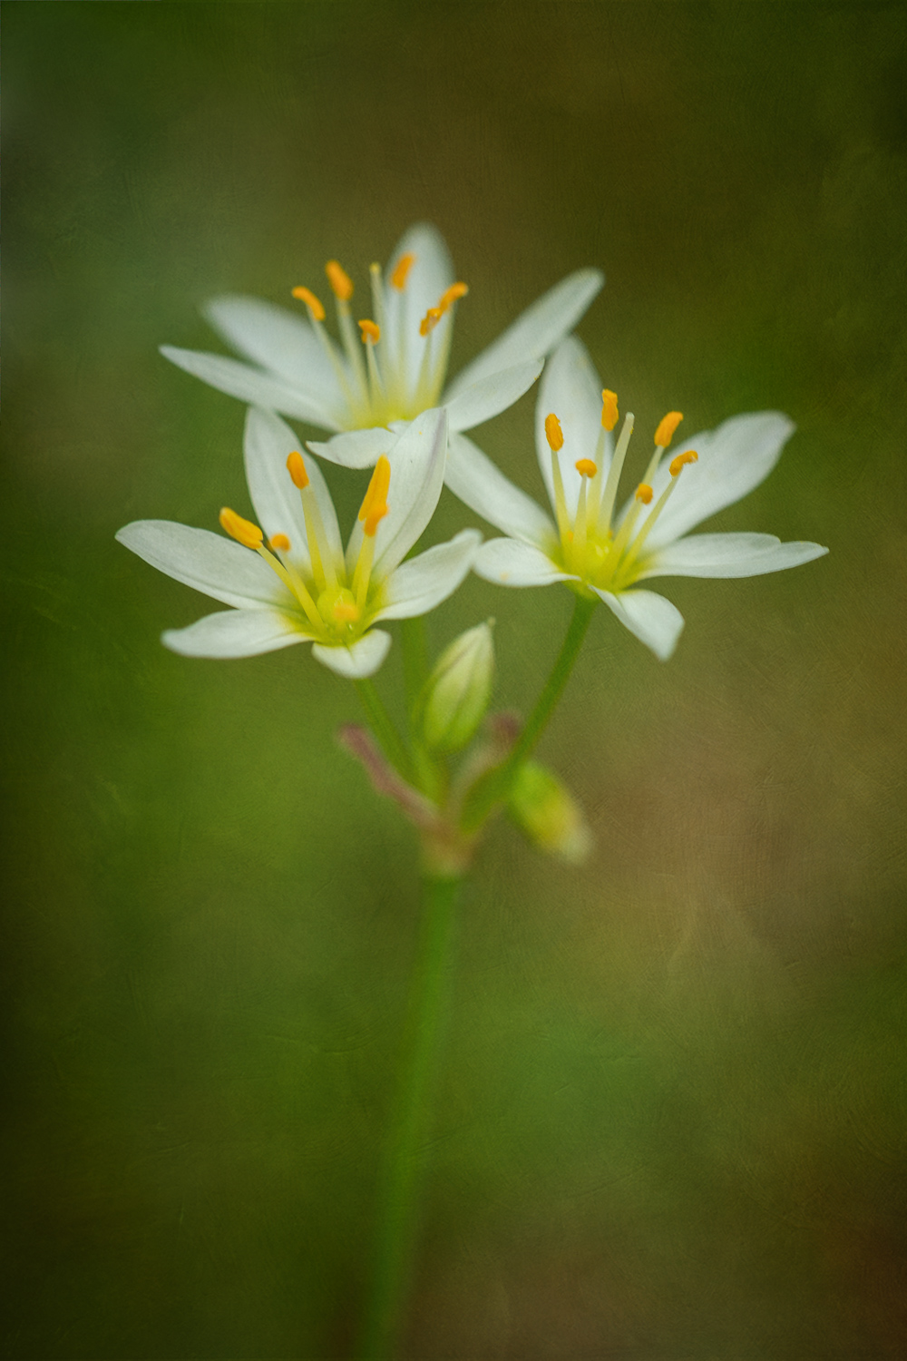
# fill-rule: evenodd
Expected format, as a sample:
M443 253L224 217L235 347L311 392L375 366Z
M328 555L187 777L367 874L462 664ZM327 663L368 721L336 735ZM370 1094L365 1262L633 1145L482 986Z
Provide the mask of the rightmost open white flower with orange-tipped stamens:
M787 416L760 411L694 436L662 463L683 416L670 412L655 431L643 482L615 513L617 482L634 416L627 415L612 457L617 399L602 392L585 347L570 336L548 361L536 408L536 448L555 521L462 434L451 436L447 486L503 529L480 548L475 570L507 587L567 581L594 593L620 622L666 660L684 621L650 577L755 577L828 553L817 543L781 543L770 534L698 534L708 516L740 501L768 476L794 431ZM681 475L683 474L683 475Z

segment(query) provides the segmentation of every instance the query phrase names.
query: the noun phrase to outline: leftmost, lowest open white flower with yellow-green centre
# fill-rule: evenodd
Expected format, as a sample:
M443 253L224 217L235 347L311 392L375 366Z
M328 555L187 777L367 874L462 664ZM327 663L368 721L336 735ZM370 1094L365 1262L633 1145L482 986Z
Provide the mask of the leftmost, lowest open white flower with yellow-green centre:
M137 520L117 534L152 566L233 606L162 641L189 657L247 657L313 642L318 661L363 679L390 636L373 625L426 614L469 572L481 542L464 529L404 562L431 520L443 483L447 419L426 411L378 460L344 554L333 502L313 457L284 422L257 407L246 418L246 478L261 528L234 510L220 524L237 542L170 520Z

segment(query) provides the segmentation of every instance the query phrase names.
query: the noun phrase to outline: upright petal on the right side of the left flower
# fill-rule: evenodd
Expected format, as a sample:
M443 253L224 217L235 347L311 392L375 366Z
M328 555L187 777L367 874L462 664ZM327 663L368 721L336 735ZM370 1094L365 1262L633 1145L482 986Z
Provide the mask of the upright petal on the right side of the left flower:
M388 455L390 510L375 535L374 573L378 578L386 577L403 562L435 513L445 482L446 455L447 414L443 408L423 411L397 437Z

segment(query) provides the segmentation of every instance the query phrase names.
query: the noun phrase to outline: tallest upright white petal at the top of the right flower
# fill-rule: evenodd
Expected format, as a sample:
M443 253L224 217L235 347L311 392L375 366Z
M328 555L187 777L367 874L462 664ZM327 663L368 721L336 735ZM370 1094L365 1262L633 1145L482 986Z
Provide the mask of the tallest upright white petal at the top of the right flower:
M582 478L577 472L577 459L594 459L601 433L601 378L596 373L582 340L567 336L545 365L536 403L536 452L538 467L555 504L555 483L551 474L551 445L545 436L545 416L552 412L560 422L564 442L558 455L564 497L570 516L577 513ZM611 465L611 437L605 434L605 455L600 460L606 472Z

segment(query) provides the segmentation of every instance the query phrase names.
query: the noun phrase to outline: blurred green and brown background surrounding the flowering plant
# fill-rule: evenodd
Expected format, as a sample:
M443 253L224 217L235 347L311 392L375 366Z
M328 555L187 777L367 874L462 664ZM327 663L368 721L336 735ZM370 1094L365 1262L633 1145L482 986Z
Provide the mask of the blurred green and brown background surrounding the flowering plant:
M352 687L167 653L208 603L113 535L247 508L242 406L159 343L430 219L454 366L601 265L643 429L798 425L714 528L831 555L666 584L668 666L593 621L541 750L598 849L479 856L404 1354L906 1356L904 10L4 8L4 1354L348 1351L413 837ZM532 410L477 438L540 494ZM525 710L568 612L472 578L432 646L495 614Z

